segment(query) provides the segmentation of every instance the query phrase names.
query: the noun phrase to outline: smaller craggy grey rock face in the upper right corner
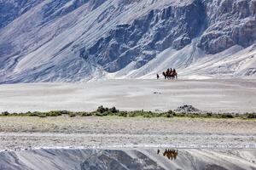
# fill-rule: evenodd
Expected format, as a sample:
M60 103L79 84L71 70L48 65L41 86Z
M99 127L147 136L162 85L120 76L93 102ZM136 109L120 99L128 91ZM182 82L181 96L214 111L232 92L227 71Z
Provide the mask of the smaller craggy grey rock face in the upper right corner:
M234 45L247 47L256 40L255 0L208 0L207 29L198 47L217 54Z

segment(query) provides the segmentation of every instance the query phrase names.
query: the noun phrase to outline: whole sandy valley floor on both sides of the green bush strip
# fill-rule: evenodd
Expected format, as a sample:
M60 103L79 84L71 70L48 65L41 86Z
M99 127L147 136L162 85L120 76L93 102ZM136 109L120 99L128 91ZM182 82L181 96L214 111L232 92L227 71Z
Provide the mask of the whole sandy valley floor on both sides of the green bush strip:
M0 111L256 111L256 80L109 80L0 85ZM256 148L256 121L121 117L0 117L0 150L30 148Z

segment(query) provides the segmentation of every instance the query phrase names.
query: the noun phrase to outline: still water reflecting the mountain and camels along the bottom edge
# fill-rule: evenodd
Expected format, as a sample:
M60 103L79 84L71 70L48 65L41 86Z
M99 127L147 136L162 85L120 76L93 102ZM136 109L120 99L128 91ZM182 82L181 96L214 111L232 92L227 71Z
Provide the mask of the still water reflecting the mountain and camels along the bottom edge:
M0 152L1 170L253 170L253 149L42 149Z

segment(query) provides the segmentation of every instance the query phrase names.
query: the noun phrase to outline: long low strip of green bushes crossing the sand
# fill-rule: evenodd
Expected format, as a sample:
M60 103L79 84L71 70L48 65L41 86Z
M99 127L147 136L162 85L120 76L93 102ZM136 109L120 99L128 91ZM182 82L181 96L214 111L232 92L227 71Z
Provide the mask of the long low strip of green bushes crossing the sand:
M123 117L134 117L143 116L147 118L151 117L191 117L191 118L241 118L241 119L256 119L256 113L246 113L246 114L230 114L230 113L186 113L186 112L175 112L166 111L164 113L157 113L152 111L119 111L115 107L108 108L102 105L97 108L96 111L92 112L72 112L72 111L49 111L49 112L39 112L39 111L28 111L26 113L9 113L4 111L0 116L61 116L68 115L70 117L74 116L123 116Z

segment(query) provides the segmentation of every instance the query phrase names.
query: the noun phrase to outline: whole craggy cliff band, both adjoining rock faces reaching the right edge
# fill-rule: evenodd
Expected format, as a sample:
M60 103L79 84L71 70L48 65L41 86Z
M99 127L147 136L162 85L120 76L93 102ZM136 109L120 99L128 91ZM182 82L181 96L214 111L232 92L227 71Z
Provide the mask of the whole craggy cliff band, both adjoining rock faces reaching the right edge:
M255 0L194 0L184 6L153 9L131 24L114 27L80 56L93 59L108 72L132 61L135 68L166 48L184 48L193 38L207 54L234 45L247 47L256 40Z

